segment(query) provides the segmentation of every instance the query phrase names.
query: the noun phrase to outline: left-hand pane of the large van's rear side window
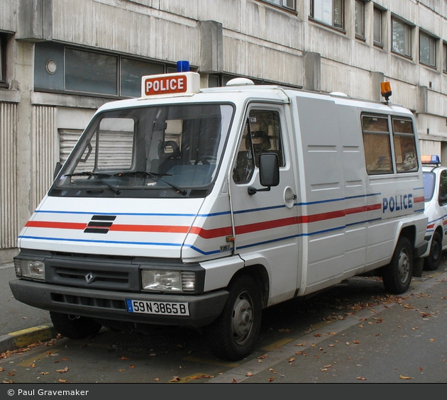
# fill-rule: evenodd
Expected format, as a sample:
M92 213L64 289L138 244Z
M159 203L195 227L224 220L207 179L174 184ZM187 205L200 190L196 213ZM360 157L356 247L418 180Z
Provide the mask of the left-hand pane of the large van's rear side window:
M392 173L388 118L386 116L363 116L362 128L366 171L370 175Z

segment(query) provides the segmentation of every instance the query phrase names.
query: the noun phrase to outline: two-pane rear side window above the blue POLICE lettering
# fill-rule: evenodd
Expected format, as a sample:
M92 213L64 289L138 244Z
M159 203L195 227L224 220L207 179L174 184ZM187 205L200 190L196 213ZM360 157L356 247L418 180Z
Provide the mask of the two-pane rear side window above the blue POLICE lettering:
M412 172L418 169L412 120L363 115L366 170L370 175Z

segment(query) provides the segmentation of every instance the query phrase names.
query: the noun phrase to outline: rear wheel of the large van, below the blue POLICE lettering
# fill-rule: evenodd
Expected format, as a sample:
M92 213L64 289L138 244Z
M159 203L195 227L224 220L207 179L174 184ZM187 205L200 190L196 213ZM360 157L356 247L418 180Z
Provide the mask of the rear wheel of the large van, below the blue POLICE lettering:
M387 291L402 294L408 290L413 274L413 249L409 240L399 238L389 265L384 267L382 278Z

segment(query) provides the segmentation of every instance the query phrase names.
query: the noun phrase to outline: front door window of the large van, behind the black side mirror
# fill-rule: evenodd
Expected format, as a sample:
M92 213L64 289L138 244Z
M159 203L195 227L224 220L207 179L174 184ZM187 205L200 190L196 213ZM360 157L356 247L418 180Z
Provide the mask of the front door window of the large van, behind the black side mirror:
M259 166L259 156L263 152L275 152L280 167L285 166L280 113L274 110L252 109L245 123L233 170L233 180L236 184L250 181L254 168Z

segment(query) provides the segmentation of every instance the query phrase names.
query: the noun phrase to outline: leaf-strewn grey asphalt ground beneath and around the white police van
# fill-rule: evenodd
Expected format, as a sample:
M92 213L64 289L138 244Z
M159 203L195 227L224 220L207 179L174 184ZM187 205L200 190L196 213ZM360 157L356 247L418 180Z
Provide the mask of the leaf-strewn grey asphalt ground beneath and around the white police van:
M5 322L2 332L48 323L45 311L11 299L3 279L11 272L0 272L1 299L11 306L2 319L18 320ZM386 294L377 279L353 278L309 300L267 309L253 355L239 362L216 360L201 335L186 329L148 337L101 330L88 340L59 338L12 352L0 359L0 378L27 384L447 383L446 333L443 262L402 296ZM115 394L120 390L114 386Z

